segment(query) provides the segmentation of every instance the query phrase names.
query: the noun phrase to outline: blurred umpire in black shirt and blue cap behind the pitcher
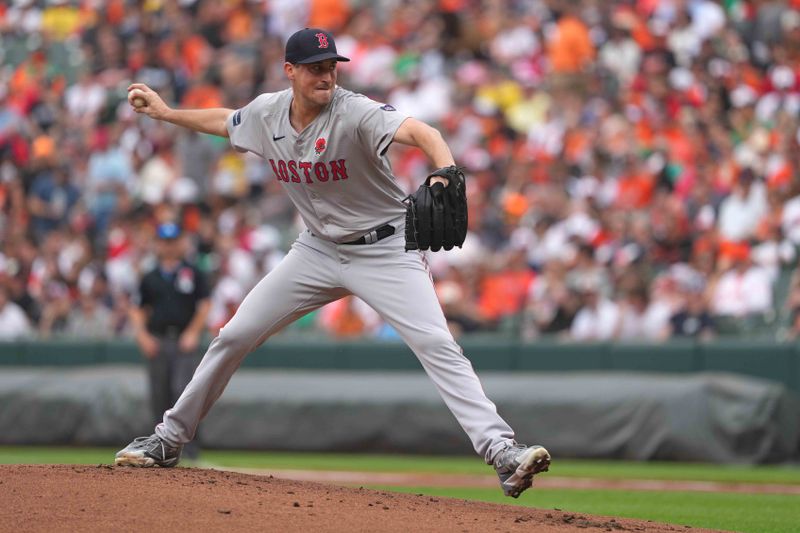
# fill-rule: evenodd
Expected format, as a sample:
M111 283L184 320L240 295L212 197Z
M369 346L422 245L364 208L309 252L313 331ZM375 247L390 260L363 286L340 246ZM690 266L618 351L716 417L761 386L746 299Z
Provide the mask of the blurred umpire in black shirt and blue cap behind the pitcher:
M163 223L156 234L158 265L142 278L131 318L136 343L148 362L153 419L160 421L200 363L197 348L210 301L205 276L184 258L180 227ZM196 459L198 451L196 443L184 448L189 459Z

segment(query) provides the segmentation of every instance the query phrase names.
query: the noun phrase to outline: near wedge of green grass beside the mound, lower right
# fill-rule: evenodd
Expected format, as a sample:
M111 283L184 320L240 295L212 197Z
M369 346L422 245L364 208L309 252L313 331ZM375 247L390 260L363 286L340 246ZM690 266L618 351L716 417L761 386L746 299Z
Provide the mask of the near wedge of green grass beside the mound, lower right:
M800 496L783 494L538 489L510 502L491 489L371 488L747 533L794 533L800 524Z

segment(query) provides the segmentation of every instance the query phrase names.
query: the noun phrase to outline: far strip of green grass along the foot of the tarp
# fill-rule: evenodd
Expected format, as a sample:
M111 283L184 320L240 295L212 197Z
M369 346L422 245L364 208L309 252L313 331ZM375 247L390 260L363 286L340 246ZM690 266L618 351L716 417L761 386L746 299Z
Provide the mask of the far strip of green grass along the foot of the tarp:
M0 446L0 464L110 463L115 452L116 449L113 448ZM203 459L215 465L239 468L491 474L491 470L477 457L208 450L203 452ZM550 473L559 477L800 485L800 465L723 466L701 463L559 460L556 457Z

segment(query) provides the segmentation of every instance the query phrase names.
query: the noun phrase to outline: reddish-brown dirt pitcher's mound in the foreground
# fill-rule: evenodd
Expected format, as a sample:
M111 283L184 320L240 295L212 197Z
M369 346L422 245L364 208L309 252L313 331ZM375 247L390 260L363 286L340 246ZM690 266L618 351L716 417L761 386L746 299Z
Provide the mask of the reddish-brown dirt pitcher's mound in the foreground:
M190 468L0 465L0 501L0 531L15 532L689 529Z

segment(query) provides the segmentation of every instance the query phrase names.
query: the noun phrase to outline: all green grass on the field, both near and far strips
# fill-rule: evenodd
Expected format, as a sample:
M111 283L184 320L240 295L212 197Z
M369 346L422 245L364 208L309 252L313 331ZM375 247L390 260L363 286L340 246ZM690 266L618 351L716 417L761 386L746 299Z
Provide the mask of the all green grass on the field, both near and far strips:
M113 448L2 447L0 464L108 464ZM478 458L402 455L306 454L254 451L203 452L203 460L220 467L349 470L365 472L429 472L485 474L492 470ZM663 479L730 483L800 485L800 466L720 466L692 463L558 460L551 474L602 479ZM374 487L540 509L654 520L678 525L753 533L798 531L800 496L583 489L536 489L520 499L499 490L432 487Z

